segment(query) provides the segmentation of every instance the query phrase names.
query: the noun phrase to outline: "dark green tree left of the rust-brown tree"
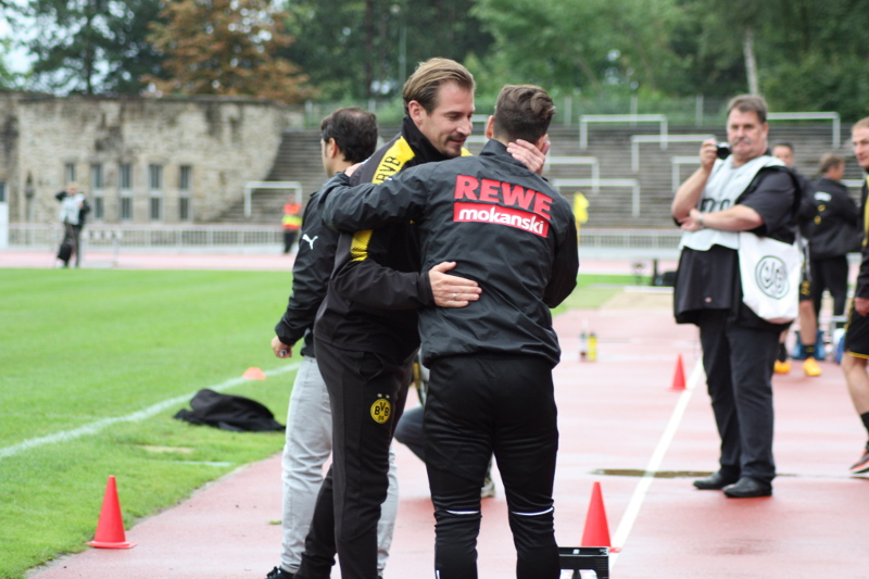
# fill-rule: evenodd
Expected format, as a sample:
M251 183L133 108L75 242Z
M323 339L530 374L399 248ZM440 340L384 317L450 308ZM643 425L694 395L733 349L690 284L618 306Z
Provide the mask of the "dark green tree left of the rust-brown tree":
M36 58L36 89L86 95L138 92L139 77L160 70L146 42L159 0L30 0L17 5L20 25L39 30L26 46Z

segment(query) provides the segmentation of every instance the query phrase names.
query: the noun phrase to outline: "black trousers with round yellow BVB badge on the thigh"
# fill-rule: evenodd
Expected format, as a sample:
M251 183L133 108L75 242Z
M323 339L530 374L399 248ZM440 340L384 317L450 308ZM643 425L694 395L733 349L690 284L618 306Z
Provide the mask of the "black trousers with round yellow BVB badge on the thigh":
M413 356L390 362L370 352L316 342L332 411L332 465L323 481L297 579L377 578L377 521L389 488L389 444L404 410Z

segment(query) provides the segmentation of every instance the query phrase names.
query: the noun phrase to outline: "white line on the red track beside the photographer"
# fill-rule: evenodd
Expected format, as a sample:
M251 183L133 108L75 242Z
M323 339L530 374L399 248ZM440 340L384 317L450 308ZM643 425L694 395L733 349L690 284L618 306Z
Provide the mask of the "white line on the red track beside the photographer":
M670 421L667 423L667 427L664 429L660 440L658 440L658 445L655 448L655 452L652 453L652 457L648 460L648 464L645 467L645 473L640 479L640 482L637 484L637 488L633 490L631 500L628 503L628 508L625 509L625 514L621 516L618 528L616 529L615 534L613 534L613 545L622 546L628 540L628 534L630 534L631 528L633 528L633 524L637 521L637 516L640 514L640 508L643 506L643 501L645 501L645 495L648 492L648 488L652 486L652 481L655 480L655 473L657 473L658 468L660 468L660 463L664 461L664 455L667 454L667 450L670 448L672 438L676 436L676 431L679 429L679 424L682 421L682 416L684 416L685 408L691 400L691 394L694 392L694 389L703 379L703 362L697 361L694 364L694 368L691 370L691 376L688 379L685 389L679 395L676 407L672 410ZM616 561L618 561L618 553L610 553L610 569L616 565Z

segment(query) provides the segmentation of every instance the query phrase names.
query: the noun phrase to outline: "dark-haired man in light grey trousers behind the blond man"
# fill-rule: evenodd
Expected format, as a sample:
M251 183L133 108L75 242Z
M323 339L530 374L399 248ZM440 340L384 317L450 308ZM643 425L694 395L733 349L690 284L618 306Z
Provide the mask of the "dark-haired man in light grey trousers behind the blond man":
M377 144L377 119L356 108L338 109L320 125L320 153L327 176L364 161ZM291 355L292 345L304 339L302 362L295 375L287 413L284 446L284 542L280 566L268 579L292 578L299 569L305 536L323 482L323 465L332 450L332 419L329 393L314 357L314 318L326 295L335 262L338 234L323 226L318 193L311 196L304 212L302 237L293 265L292 294L287 312L275 327L272 349L278 357ZM392 542L398 512L398 477L390 456L389 493L377 528L378 571L382 575Z

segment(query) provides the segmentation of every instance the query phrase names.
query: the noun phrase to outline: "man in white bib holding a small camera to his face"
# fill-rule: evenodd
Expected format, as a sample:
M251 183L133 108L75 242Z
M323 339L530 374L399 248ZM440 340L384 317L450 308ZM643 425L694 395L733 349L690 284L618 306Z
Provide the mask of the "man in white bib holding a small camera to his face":
M671 206L685 231L673 293L676 320L700 327L721 437L719 469L694 486L739 499L772 494L771 378L778 338L788 327L761 319L743 304L739 232L792 243L799 203L793 175L767 150L766 115L761 97L731 100L728 147L711 139L702 144L701 167Z

